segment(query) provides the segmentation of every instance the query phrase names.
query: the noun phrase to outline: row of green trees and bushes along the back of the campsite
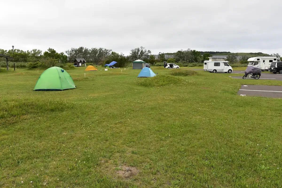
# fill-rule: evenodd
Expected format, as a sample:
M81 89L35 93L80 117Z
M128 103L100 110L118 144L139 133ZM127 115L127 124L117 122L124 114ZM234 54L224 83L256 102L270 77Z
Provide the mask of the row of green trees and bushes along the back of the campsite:
M214 52L213 52L214 53ZM219 53L219 52L216 52ZM237 53L230 53L227 56L227 61L230 63L246 64L248 58L255 57L257 53L251 54L252 56L242 56L241 59L237 59ZM5 54L13 57L13 50L0 49L0 54ZM129 56L125 56L123 53L117 53L111 49L106 48L85 48L83 46L79 48L71 48L65 52L57 52L53 48L48 48L47 51L42 53L42 50L32 49L23 51L20 49L14 49L14 62L28 62L28 68L43 67L47 68L56 64L72 63L75 58L84 58L87 64L104 65L112 61L118 62L117 66L124 67L130 64L136 59L142 59L143 61L152 65L160 65L163 61L179 63L182 66L187 66L189 63L202 63L208 60L208 57L212 56L209 52L201 52L197 50L179 50L173 53L174 57L166 59L164 52L158 53L158 59L152 55L151 50L144 48L143 46L131 49ZM272 56L280 57L278 53L271 54ZM68 65L71 66L71 65Z

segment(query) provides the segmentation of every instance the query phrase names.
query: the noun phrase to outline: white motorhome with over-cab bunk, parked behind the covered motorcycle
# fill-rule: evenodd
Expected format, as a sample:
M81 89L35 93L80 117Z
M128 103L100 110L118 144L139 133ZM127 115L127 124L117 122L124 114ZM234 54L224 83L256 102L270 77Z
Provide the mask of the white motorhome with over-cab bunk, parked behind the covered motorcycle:
M248 62L248 66L259 67L262 71L269 71L270 64L277 62L277 57L251 57Z

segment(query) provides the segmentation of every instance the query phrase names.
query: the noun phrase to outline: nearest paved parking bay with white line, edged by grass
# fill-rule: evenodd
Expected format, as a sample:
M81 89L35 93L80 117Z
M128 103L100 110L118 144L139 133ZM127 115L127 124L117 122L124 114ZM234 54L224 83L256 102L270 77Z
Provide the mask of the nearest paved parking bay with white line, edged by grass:
M241 85L237 95L282 98L282 86Z

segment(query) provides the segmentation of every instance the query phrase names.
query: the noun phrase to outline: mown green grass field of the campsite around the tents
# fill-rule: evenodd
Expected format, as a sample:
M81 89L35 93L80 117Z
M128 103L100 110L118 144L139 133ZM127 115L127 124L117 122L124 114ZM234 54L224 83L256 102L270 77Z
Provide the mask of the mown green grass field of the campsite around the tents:
M281 81L152 70L67 70L65 91L0 70L0 187L282 185L282 100L236 94Z

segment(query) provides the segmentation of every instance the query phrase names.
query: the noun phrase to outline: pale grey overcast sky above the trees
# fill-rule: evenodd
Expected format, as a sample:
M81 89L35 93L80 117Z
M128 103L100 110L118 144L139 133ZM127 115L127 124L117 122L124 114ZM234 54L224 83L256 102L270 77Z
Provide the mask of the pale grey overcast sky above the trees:
M1 2L0 48L282 54L281 11L281 0L9 0Z

